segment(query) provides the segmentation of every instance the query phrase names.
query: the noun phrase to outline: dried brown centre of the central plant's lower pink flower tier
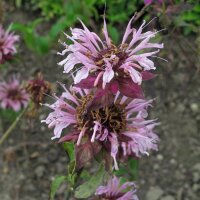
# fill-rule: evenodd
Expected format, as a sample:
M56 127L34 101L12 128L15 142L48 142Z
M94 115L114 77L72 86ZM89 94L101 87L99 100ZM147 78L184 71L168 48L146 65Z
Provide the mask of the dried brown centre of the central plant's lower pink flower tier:
M82 104L77 107L78 128L81 130L87 123L87 126L93 127L94 121L98 121L103 128L110 132L120 133L126 129L125 106L121 104L111 104L97 109L89 109L89 103L92 100L91 95L81 99Z

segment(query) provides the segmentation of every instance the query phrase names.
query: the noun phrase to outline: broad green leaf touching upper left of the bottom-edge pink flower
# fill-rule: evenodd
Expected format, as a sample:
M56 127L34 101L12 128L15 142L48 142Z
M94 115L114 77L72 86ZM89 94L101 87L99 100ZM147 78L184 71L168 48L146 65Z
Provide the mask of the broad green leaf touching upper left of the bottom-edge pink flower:
M97 187L101 185L104 175L105 170L103 165L101 165L98 172L96 172L87 182L76 188L75 197L79 199L84 199L94 194Z

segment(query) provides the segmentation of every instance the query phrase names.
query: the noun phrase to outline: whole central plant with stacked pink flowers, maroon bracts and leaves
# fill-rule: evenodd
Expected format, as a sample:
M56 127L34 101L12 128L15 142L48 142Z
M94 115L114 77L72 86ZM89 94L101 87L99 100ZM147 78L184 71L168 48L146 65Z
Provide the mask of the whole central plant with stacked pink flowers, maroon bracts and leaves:
M138 199L134 180L126 177L121 183L116 175L124 166L137 168L139 159L158 150L159 123L148 118L154 100L145 99L141 85L155 77L152 58L163 44L151 42L158 32L145 32L146 22L136 29L133 21L134 17L120 45L109 37L105 18L103 40L82 21L83 29L71 28L71 36L66 34L70 44L63 43L65 49L58 54L65 58L58 64L71 74L73 85L61 84L62 94L45 104L51 112L42 120L70 158L67 176L52 184L52 199L62 181L68 182L68 192L75 198ZM99 169L84 178L88 163ZM77 186L79 179L83 184Z

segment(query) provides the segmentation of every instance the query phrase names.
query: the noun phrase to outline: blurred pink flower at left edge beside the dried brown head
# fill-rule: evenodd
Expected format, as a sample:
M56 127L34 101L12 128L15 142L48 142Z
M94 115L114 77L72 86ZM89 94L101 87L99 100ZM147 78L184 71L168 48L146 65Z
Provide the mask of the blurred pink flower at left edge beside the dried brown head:
M16 77L12 77L9 82L0 82L0 107L3 109L13 109L19 111L26 107L29 101L29 95L26 90L20 86Z

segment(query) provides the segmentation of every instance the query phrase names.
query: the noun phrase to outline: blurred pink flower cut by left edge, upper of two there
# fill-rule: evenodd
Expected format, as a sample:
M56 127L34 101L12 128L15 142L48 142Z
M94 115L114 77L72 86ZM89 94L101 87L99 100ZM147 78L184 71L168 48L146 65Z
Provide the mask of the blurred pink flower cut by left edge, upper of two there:
M19 36L5 31L0 25L0 64L16 53L14 44L19 41Z

